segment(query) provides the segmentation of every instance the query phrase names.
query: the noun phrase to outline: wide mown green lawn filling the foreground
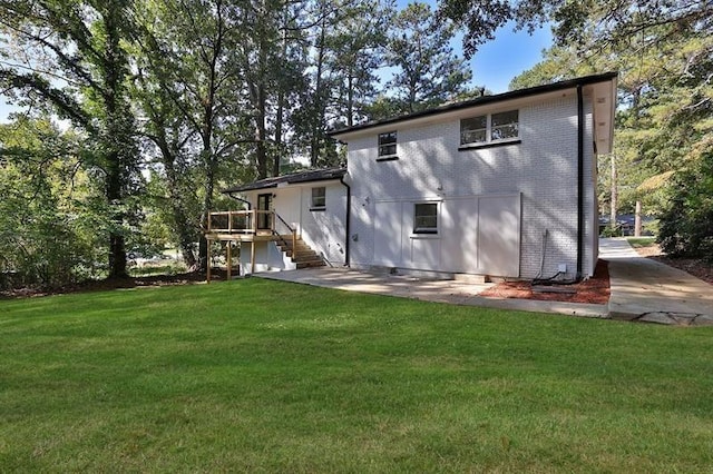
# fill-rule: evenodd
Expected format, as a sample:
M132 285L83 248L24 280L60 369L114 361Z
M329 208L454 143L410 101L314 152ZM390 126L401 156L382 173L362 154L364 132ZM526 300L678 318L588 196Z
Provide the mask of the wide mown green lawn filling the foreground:
M0 302L0 472L710 472L713 328L251 278Z

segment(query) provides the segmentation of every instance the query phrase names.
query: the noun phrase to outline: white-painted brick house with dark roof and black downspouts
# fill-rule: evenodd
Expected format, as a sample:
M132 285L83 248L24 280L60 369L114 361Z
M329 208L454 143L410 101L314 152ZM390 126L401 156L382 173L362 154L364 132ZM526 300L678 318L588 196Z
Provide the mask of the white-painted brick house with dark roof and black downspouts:
M612 149L616 78L588 76L341 129L332 137L346 145L346 170L227 192L292 223L330 265L587 277L598 255L596 155ZM283 234L276 226L273 234ZM241 238L253 239L244 266L294 268L271 250L274 239L257 244L258 234Z

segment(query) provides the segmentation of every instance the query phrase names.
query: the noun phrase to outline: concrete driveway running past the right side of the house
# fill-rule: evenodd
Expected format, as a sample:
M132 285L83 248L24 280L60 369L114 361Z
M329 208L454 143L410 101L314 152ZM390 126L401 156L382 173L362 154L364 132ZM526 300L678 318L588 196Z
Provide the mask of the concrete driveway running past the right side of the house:
M641 257L624 238L600 239L599 258L609 263L613 318L686 326L713 320L713 285Z

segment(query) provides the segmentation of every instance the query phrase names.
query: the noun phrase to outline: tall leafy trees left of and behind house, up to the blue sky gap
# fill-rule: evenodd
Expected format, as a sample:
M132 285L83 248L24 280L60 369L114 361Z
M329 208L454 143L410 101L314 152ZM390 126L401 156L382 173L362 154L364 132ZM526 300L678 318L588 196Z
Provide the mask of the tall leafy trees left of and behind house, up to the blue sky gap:
M38 285L125 277L152 241L202 268L222 187L343 162L329 129L471 78L424 3L1 0L0 34L2 92L27 110L0 127L0 273Z

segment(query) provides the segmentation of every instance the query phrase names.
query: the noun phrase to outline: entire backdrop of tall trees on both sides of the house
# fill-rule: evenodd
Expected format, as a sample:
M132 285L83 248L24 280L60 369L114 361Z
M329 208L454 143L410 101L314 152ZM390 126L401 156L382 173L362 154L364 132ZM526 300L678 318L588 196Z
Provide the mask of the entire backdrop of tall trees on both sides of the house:
M330 129L477 96L450 42L472 55L508 21L556 39L512 87L622 71L600 200L647 200L671 251L711 255L707 2L0 0L23 110L0 126L0 286L125 277L152 245L202 268L223 186L343 164Z

